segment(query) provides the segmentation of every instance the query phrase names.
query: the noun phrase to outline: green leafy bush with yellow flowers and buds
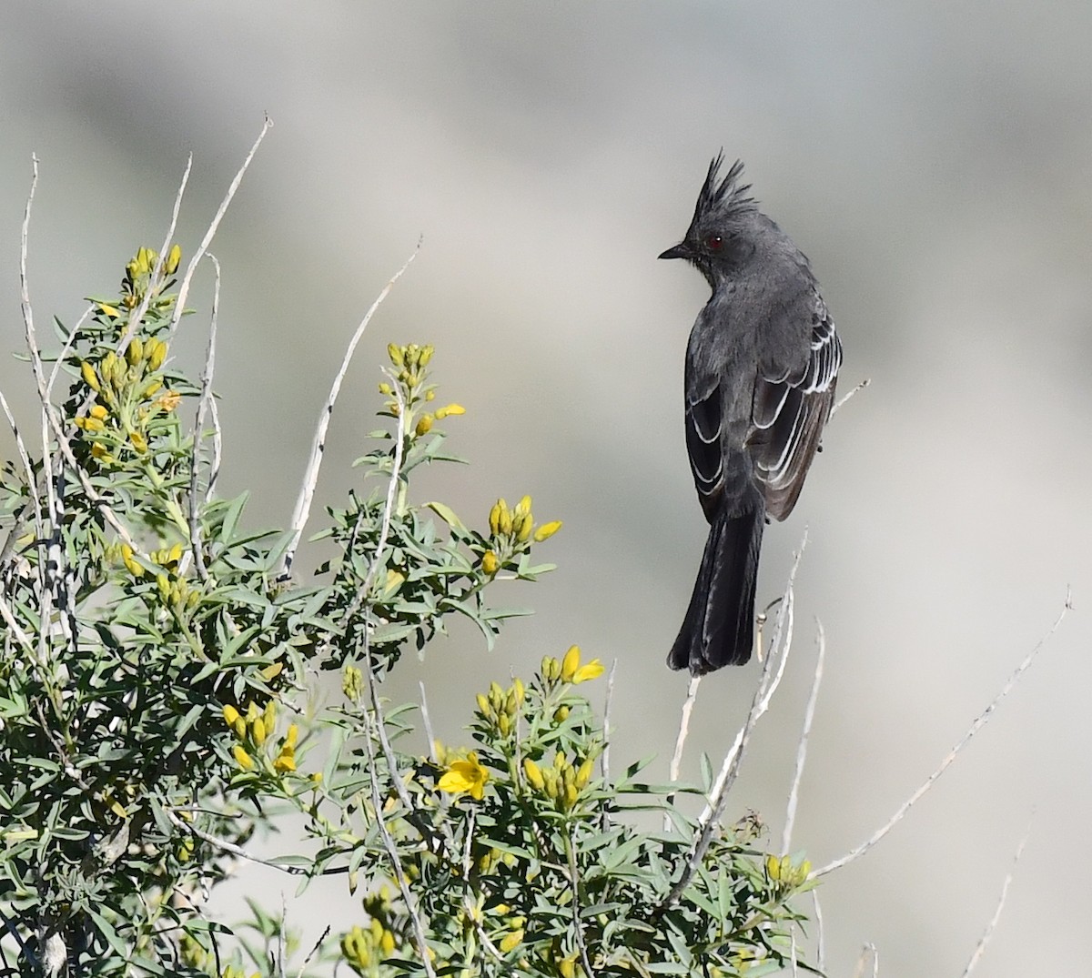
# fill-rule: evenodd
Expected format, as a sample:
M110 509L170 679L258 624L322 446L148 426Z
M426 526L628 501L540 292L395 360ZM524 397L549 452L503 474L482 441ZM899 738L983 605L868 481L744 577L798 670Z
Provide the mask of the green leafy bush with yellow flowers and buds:
M550 570L536 552L561 524L527 496L479 529L413 501L464 410L434 407L431 346L392 344L361 488L318 534L333 556L299 574L301 526L253 530L246 496L216 492L212 358L197 381L171 359L180 260L140 249L119 296L57 324L56 357L28 318L45 437L0 473L0 974L282 974L284 921L253 902L233 938L205 895L285 808L318 851L273 863L363 895L300 974L776 969L806 867L767 859L752 819L696 848L674 797L709 785L608 771L583 695L603 665L577 646L479 694L472 744L405 746L420 708L378 692L401 653L453 613L491 643L515 612L487 593ZM305 724L322 670L344 696ZM669 827L640 830L649 810Z

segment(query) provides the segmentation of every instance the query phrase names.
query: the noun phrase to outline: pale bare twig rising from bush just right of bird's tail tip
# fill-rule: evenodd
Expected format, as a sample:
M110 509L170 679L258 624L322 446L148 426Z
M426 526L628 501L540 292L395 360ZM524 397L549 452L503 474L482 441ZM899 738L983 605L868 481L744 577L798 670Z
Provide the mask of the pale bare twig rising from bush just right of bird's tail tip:
M788 663L788 653L793 644L793 582L796 580L796 571L800 565L800 559L804 557L804 548L807 546L807 541L808 534L805 529L804 537L800 540L800 549L796 553L796 559L793 561L793 568L788 574L788 583L785 586L781 608L778 610L778 625L774 629L773 641L770 644L770 653L762 665L762 672L759 677L758 687L755 690L755 696L751 700L747 721L739 732L736 734L735 741L724 756L724 762L713 785L709 802L698 819L700 831L690 849L686 867L664 898L662 906L670 906L678 901L698 872L698 867L701 866L702 859L705 858L705 852L709 851L713 836L720 826L721 816L724 814L724 809L728 803L728 791L732 789L739 774L739 766L747 750L747 744L750 741L751 731L755 729L755 725L762 714L769 709L770 701L773 699L773 694L781 684L781 678L785 673L785 665ZM774 663L778 664L776 672L773 670Z

